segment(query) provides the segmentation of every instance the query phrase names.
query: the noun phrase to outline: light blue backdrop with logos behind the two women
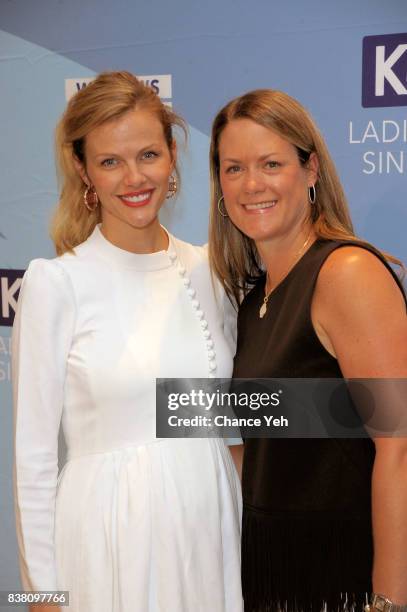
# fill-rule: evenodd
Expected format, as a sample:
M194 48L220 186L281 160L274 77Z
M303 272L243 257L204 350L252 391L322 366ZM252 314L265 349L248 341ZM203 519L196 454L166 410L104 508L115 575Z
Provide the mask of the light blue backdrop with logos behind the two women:
M0 3L0 590L18 588L10 333L28 262L53 257L53 130L103 70L129 70L187 120L182 191L162 222L207 240L211 120L230 98L282 89L313 114L357 233L407 262L405 0L2 0ZM41 346L38 346L40 353ZM10 608L11 609L11 608Z

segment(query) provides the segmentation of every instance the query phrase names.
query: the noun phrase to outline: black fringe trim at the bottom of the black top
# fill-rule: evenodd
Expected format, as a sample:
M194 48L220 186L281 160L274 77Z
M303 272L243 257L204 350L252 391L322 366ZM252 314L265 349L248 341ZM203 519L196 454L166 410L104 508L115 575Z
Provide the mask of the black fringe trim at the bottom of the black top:
M372 592L370 517L270 516L245 507L245 612L362 612Z

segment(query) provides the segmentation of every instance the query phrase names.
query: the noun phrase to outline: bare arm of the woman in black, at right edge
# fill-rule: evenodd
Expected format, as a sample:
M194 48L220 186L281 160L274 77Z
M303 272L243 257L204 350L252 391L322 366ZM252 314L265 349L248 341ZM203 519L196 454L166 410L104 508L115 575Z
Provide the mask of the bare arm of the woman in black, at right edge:
M344 377L407 378L405 302L373 254L351 246L332 253L318 278L312 317ZM374 441L373 589L407 604L407 439Z

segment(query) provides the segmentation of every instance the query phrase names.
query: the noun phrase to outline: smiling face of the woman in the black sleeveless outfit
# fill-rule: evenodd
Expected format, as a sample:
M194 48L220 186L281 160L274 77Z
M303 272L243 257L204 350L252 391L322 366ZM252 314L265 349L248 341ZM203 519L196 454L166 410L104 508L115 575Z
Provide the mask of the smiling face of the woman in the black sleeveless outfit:
M231 221L257 246L295 240L309 218L308 187L318 162L307 166L297 149L251 119L233 119L219 138L219 178Z

